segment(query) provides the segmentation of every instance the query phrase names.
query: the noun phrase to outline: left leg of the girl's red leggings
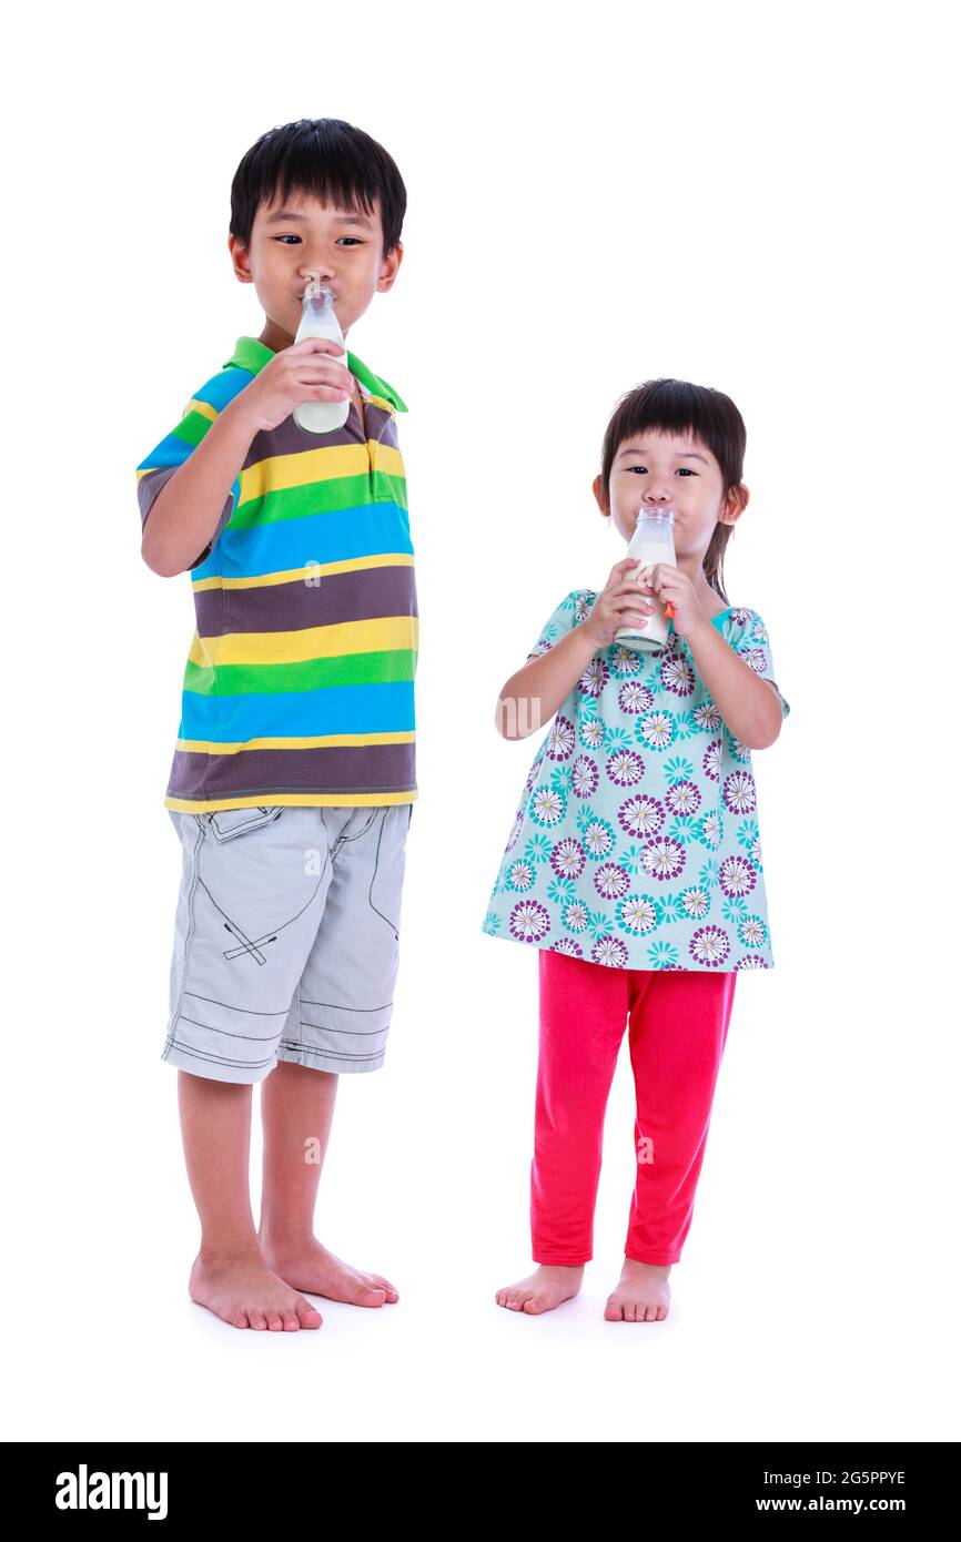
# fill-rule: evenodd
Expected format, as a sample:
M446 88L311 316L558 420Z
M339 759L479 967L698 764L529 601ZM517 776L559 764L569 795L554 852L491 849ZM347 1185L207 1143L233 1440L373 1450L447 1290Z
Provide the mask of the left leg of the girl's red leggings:
M531 1163L535 1263L594 1252L605 1109L628 1016L628 970L540 948L540 1052Z

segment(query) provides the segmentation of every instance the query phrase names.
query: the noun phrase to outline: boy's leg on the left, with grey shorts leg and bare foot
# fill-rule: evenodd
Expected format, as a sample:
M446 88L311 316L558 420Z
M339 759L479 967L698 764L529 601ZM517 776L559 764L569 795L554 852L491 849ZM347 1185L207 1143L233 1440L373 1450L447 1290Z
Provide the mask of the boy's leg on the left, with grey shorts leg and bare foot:
M190 1294L236 1328L322 1321L262 1258L250 1209L250 1089L276 1064L330 882L329 868L304 862L312 817L322 833L316 810L171 811L184 873L164 1059L179 1069L184 1155L202 1229Z

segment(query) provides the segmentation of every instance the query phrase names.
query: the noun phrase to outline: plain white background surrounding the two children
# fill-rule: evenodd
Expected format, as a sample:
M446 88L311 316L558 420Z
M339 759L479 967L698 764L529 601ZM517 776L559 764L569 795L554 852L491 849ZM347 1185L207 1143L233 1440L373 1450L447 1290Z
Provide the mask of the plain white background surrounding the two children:
M958 1437L947 17L366 0L19 23L8 1437ZM398 282L350 344L410 407L420 802L387 1062L341 1078L318 1204L321 1238L401 1301L258 1334L187 1295L159 1055L193 604L140 561L134 467L262 327L230 180L302 116L366 128L409 191ZM739 979L668 1320L602 1318L626 1045L595 1258L529 1318L494 1292L531 1268L537 961L481 921L540 736L504 743L494 708L557 601L622 555L589 484L615 399L654 375L728 392L748 427L725 572L793 709L754 756L776 968Z

